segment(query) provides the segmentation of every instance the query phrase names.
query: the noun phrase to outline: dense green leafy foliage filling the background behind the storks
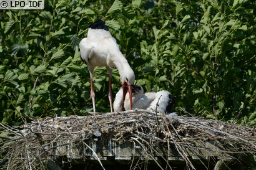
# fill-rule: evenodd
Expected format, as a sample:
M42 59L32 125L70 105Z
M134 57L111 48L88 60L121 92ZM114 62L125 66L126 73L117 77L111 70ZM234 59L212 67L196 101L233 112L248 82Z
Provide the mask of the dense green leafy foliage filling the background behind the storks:
M169 90L175 110L254 125L255 2L46 1L0 14L0 120L92 111L78 45L102 19L146 92ZM96 68L97 111L110 111L106 68ZM113 72L112 89L120 87Z

